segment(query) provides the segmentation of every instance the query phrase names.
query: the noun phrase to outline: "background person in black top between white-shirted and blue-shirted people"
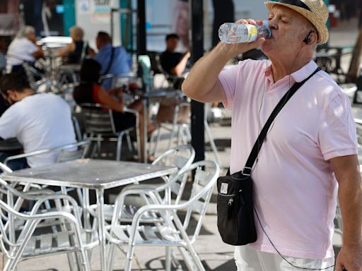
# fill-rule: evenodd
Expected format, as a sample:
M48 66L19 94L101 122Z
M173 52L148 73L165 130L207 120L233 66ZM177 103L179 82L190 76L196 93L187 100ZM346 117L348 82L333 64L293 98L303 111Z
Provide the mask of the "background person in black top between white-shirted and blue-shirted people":
M85 56L88 56L93 51L88 47L87 42L83 41L83 29L74 26L70 28L72 42L66 47L59 49L58 56L66 56L66 64L81 64Z

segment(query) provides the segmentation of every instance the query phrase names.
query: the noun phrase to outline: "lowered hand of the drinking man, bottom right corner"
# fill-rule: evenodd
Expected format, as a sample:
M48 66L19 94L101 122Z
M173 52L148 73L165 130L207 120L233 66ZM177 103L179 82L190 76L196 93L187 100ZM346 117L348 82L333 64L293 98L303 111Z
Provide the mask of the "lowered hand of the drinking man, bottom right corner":
M362 245L342 247L336 261L336 271L362 271Z

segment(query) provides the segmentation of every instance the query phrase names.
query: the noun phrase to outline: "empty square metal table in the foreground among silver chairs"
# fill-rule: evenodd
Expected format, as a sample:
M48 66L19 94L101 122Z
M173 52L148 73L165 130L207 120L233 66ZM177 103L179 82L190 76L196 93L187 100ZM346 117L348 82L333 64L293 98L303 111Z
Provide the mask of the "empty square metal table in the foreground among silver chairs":
M177 167L165 167L137 162L119 162L98 159L77 159L33 169L21 169L1 174L5 181L69 186L94 189L98 207L98 234L100 241L100 267L106 270L104 191L136 181L173 174Z

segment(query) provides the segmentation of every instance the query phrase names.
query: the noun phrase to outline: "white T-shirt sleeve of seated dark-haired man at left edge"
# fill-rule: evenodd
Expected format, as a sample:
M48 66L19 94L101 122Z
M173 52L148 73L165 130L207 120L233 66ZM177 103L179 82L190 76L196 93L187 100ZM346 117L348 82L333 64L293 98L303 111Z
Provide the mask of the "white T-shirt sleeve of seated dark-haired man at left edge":
M0 137L3 139L16 138L19 132L19 124L21 124L16 104L9 107L0 118Z

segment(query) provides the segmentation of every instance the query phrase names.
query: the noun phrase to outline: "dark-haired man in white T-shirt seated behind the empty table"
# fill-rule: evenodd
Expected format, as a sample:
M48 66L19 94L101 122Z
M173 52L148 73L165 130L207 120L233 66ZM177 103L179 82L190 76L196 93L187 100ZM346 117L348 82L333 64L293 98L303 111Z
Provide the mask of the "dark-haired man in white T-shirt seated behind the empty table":
M25 78L6 74L0 78L0 90L11 104L0 117L0 138L17 138L24 152L59 147L76 142L69 105L51 93L37 94ZM57 153L28 157L18 167L38 167L56 162ZM0 154L4 161L6 153ZM11 167L11 166L10 166Z

